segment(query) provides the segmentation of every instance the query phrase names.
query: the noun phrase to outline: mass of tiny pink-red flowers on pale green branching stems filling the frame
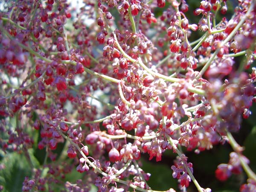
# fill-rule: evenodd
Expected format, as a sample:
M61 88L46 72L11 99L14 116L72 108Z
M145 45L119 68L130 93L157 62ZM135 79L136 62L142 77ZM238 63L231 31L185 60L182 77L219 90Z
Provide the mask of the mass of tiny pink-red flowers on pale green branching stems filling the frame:
M190 6L84 0L76 10L66 0L3 0L0 145L31 166L22 191L55 191L55 183L63 191L153 192L141 160L171 151L180 189L193 182L210 192L181 147L198 154L224 143L235 152L215 176L244 170L240 191L255 191L256 175L231 134L256 102L255 0L238 0L230 19L227 0L202 0L190 10L198 23ZM75 182L73 171L81 173Z

